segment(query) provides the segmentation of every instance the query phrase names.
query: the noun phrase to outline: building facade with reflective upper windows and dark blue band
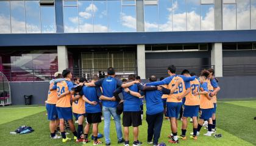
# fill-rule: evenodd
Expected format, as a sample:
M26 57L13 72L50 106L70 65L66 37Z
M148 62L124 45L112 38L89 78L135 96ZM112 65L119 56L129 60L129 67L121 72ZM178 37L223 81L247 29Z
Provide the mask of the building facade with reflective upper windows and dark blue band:
M256 76L256 0L0 0L0 57L11 89L40 84L42 94L41 81L66 68L146 79L175 64L177 73L215 68L221 98L253 97L231 91Z

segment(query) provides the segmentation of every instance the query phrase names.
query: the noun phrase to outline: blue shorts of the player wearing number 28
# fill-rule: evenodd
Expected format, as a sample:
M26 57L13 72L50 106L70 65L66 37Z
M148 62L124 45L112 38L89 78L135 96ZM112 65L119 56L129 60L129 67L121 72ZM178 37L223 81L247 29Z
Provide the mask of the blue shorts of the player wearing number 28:
M166 117L179 118L182 102L166 102Z

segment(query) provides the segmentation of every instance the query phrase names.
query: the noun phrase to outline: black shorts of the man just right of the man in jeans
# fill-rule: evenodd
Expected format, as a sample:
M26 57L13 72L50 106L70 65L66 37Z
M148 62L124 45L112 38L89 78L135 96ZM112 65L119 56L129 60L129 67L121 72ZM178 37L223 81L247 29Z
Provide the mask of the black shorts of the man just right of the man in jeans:
M123 112L123 126L124 127L138 127L141 125L141 111L124 111Z

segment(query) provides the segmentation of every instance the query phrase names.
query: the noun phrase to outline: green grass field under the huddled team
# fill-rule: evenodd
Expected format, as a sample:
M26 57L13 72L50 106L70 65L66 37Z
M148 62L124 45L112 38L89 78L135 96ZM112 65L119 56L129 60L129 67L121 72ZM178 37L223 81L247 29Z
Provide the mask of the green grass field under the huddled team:
M146 108L146 107L145 107ZM256 145L256 99L249 99L248 101L231 101L219 102L217 108L217 133L222 134L222 138L203 136L206 130L202 128L201 136L197 141L187 139L180 141L178 145ZM83 145L76 144L76 142L69 141L65 144L61 139L50 139L48 120L44 107L36 106L7 106L0 108L0 145ZM144 118L145 119L145 118ZM139 140L146 144L147 137L147 123L143 119L143 125L140 126ZM104 121L99 125L99 132L103 132ZM34 128L33 133L11 135L10 131L16 130L21 125L27 125ZM77 126L77 125L76 125ZM179 122L179 131L181 122ZM132 128L130 128L132 130ZM115 124L112 120L110 127L110 138L112 145L118 145L115 133ZM187 137L192 131L192 125L188 126ZM68 131L70 132L70 131ZM160 142L168 144L170 134L169 120L164 120L161 131ZM69 134L68 137L73 137ZM130 141L133 141L132 132L130 132ZM101 139L104 142L104 138ZM92 145L92 143L84 144ZM105 144L102 144L105 145ZM122 145L122 144L119 144Z

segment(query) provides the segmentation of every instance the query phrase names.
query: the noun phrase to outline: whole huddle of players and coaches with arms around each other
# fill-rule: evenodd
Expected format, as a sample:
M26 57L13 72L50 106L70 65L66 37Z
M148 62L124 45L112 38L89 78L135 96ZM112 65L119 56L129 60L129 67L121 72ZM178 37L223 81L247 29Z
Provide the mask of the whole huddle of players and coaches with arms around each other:
M168 142L172 144L179 143L179 139L187 139L188 117L193 120L191 139L197 139L205 121L208 122L208 131L204 135L212 136L216 131L216 94L220 90L214 70L204 69L197 77L184 69L182 74L177 75L176 67L170 65L168 75L169 77L160 78L160 81L157 81L155 75L151 75L149 83L143 84L140 77L135 75L129 75L128 80L124 78L122 81L115 77L114 68L108 68L105 78L99 79L94 75L88 82L86 78L80 77L79 82L77 80L74 84L71 82L71 71L65 69L62 73L56 72L55 79L50 82L46 101L51 138L62 137L62 142L70 141L65 133L65 123L68 123L76 142L87 144L90 142L88 133L92 125L93 145L102 144L98 139L98 124L103 113L105 145L110 145L111 116L115 122L117 144L129 146L129 127L132 126L132 145L141 145L142 142L138 140L138 127L142 123L141 99L146 101L148 144L159 145L164 115L171 123ZM123 98L119 97L120 94ZM178 136L177 120L180 110L183 110L182 133ZM73 113L78 120L77 130L73 123ZM124 138L120 117L122 113ZM83 127L85 117L87 124ZM57 127L60 128L61 136L56 134Z

